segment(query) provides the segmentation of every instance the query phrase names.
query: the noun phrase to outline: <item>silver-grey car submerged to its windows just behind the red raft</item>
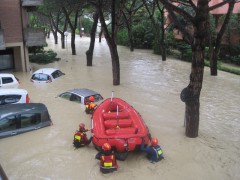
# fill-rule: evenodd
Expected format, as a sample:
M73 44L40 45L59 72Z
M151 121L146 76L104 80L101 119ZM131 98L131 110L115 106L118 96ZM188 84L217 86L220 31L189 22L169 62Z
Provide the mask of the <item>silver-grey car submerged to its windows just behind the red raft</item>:
M72 89L59 95L59 97L61 98L64 98L70 101L75 101L84 105L86 105L86 103L89 102L90 96L94 97L94 102L103 100L103 97L101 94L90 89Z

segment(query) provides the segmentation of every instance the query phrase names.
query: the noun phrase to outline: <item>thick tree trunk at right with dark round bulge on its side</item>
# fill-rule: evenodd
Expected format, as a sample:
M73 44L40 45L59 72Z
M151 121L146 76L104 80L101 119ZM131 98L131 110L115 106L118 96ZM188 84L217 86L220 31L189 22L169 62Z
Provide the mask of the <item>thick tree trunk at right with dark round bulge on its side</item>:
M195 138L198 136L199 129L199 97L202 89L204 72L204 52L207 37L208 22L208 0L198 0L197 12L194 24L194 40L192 43L192 68L190 83L182 91L185 98L185 120L187 137Z

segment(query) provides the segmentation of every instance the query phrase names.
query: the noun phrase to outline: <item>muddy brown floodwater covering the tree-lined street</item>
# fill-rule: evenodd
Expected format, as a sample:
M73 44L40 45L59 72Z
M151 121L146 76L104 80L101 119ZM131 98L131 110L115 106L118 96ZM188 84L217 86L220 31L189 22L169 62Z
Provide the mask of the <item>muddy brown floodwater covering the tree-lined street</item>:
M191 64L161 58L149 50L130 52L118 47L121 84L113 86L112 66L105 39L96 39L93 66L86 66L85 52L90 39L77 37L77 55L48 40L48 49L58 53L60 61L32 64L56 67L66 73L51 84L32 84L31 72L14 72L19 88L28 90L31 102L44 103L53 126L22 135L0 139L0 163L11 180L239 180L240 179L240 76L218 71L210 76L205 68L200 97L199 136L185 136L185 104L180 93L189 83ZM60 40L59 40L60 42ZM157 137L165 160L150 163L144 153L130 153L118 161L111 174L99 171L97 151L90 144L75 150L73 134L80 122L91 127L91 116L84 106L57 96L69 89L88 88L104 98L120 97L143 117L152 137ZM88 133L90 136L90 133Z

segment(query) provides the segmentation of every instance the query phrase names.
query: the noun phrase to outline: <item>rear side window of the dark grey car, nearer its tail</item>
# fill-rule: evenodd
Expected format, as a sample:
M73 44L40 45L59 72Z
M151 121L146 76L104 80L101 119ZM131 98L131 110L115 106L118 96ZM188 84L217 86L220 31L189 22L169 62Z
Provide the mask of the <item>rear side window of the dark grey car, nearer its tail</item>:
M21 128L30 127L41 122L40 113L21 114Z

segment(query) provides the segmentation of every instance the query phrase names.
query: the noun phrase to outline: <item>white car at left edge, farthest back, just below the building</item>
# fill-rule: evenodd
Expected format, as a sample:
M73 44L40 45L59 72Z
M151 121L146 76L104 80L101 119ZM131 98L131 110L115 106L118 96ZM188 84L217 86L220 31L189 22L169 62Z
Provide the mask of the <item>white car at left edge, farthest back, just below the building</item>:
M20 82L13 74L0 73L0 89L18 88Z

